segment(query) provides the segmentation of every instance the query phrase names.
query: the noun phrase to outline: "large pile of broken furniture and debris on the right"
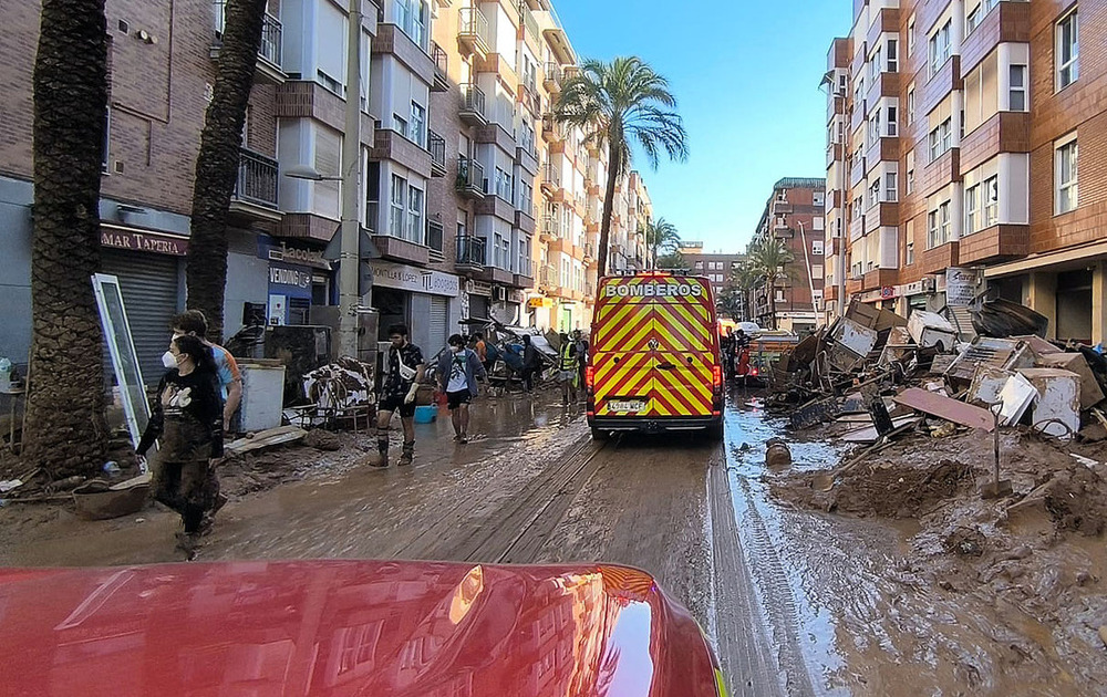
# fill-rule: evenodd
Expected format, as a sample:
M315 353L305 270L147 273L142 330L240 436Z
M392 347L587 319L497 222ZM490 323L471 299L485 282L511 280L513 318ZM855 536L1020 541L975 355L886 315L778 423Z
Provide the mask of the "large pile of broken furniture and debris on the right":
M992 431L1025 424L1059 440L1107 440L1096 408L1107 360L1043 339L1047 320L1016 303L979 300L904 319L853 301L846 315L784 354L769 409L794 428L841 423L844 439L880 444L925 426Z

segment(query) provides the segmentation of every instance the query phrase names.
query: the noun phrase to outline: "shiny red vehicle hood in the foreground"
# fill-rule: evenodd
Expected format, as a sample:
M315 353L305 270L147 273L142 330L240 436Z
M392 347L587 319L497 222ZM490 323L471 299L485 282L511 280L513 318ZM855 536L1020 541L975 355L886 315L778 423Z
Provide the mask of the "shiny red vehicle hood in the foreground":
M699 626L624 566L408 561L0 570L18 695L716 695Z

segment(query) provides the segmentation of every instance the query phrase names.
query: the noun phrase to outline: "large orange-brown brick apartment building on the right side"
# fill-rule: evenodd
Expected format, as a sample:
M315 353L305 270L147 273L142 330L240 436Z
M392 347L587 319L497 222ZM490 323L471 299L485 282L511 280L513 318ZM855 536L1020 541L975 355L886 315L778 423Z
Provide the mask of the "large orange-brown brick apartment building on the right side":
M1051 337L1104 340L1105 9L855 1L824 81L827 246L846 252L829 299L845 272L849 295L937 309L953 269L1048 316Z

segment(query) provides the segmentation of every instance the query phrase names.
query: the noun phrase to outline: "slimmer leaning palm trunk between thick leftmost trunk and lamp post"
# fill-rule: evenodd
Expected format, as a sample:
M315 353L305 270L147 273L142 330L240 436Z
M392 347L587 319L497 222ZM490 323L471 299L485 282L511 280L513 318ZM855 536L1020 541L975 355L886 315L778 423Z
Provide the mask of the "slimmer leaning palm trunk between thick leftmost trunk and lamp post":
M228 0L219 67L204 117L193 190L192 239L185 278L188 306L208 320L208 339L223 337L227 288L227 210L238 179L246 105L261 46L266 0Z

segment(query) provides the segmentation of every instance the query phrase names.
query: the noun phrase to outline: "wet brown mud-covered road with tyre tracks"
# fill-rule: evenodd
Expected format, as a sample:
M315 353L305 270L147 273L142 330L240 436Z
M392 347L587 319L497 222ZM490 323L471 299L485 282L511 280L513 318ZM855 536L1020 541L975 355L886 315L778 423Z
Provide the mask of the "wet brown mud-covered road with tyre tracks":
M476 409L480 435L466 446L451 441L447 419L420 426L412 468L366 467L364 435L338 452L268 454L228 477L237 496L199 559L624 563L689 606L733 695L1074 694L1045 682L1053 665L1039 666L1035 691L1012 691L1011 638L987 635L986 607L897 583L911 523L772 497L789 472L832 466L834 448L793 440L794 464L773 471L764 444L782 434L779 420L737 392L726 418L722 444L594 443L576 407L500 398ZM153 508L86 522L61 507L10 507L0 510L0 563L180 561L176 526Z

